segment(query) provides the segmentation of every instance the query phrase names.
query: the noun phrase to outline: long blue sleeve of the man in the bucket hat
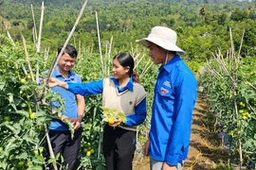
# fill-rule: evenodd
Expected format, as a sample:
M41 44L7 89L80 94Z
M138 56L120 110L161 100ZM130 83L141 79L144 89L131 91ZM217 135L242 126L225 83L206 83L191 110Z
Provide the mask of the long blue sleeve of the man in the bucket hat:
M174 87L175 108L174 125L170 132L165 161L168 164L177 164L185 160L188 155L190 136L192 128L192 111L196 101L197 82L194 76L180 74L176 79L177 86ZM180 158L180 156L186 158Z

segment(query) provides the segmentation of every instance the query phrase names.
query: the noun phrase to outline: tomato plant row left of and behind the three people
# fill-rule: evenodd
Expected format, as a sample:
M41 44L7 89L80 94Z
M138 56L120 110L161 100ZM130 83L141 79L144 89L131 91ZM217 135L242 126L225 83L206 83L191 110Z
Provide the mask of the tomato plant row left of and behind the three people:
M7 37L2 36L1 38L3 38L3 43L0 46L0 137L2 139L0 141L0 169L43 169L47 164L43 155L46 143L46 131L43 125L45 123L48 125L53 117L58 118L58 116L51 114L51 107L42 103L42 99L49 103L60 101L63 104L64 102L60 94L52 92L43 84L39 85L35 77L36 65L38 64L39 70L43 72L51 65L51 60L44 60L45 54L36 53L35 45L32 42L27 42L30 70L25 59L23 44L12 45ZM51 56L54 55L55 51ZM111 54L113 57L115 55ZM155 78L158 71L157 66L147 69L148 58L137 60L140 62L135 71L148 92L147 110L149 115L144 124L138 127L137 144L139 144L144 143L147 134ZM98 54L81 51L81 56L78 57L73 70L82 77L82 82L111 76L112 59L106 57L102 61L106 63L104 66L101 65ZM39 76L45 77L46 75ZM82 148L77 168L103 170L105 169L105 160L102 155L102 133L103 126L108 119L103 121L102 96L101 94L90 95L86 97L85 101L86 110L82 120ZM61 112L64 109L62 107L64 105L56 110ZM113 118L117 117L113 115ZM125 117L122 119L125 122Z

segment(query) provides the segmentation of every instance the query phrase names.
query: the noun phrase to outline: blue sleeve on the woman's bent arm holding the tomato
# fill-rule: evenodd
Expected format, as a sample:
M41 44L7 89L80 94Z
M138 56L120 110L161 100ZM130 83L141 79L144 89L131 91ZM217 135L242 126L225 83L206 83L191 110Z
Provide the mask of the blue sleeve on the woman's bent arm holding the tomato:
M127 122L124 124L126 127L133 127L140 125L146 119L146 98L144 98L135 108L135 114L127 116Z

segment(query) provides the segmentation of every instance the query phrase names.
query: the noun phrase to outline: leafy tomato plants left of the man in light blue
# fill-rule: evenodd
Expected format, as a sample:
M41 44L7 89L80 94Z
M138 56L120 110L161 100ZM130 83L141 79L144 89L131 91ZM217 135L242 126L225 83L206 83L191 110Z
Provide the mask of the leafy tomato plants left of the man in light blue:
M52 116L51 107L44 105L42 99L63 101L60 94L29 76L23 45L14 46L9 39L3 40L0 47L0 169L43 169L47 162L42 151L37 150L45 144L42 125L48 124ZM30 60L43 63L34 45L28 43L27 51L34 56ZM32 73L35 70L31 66ZM57 110L62 110L61 107Z

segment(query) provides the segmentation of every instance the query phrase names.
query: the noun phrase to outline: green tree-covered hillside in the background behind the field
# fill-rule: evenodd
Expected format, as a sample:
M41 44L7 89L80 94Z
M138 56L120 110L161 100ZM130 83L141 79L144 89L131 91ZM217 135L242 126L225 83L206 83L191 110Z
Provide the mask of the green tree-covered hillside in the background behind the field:
M42 49L56 48L64 43L82 8L83 1L51 0L45 2ZM21 41L21 32L27 41L33 40L31 5L37 30L41 18L41 1L5 0L0 6L0 31L9 30L14 41ZM15 8L15 10L13 10ZM135 41L146 36L153 26L173 27L179 36L178 44L185 49L185 59L203 62L211 52L229 47L229 28L234 31L235 45L240 44L246 29L242 55L254 55L255 4L236 0L93 0L88 1L82 19L71 42L99 52L96 11L99 17L101 43L110 42L113 52L129 51ZM6 26L4 26L4 23ZM5 28L7 27L7 29ZM0 33L1 33L0 32ZM207 37L205 37L208 35ZM104 48L102 49L104 53Z

